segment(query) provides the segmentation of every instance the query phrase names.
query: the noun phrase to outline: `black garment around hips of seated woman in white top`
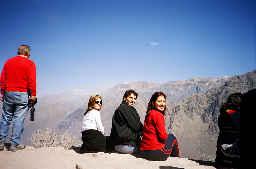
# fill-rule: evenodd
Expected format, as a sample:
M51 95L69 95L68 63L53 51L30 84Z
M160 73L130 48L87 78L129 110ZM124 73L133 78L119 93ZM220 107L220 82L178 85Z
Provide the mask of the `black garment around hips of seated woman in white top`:
M82 131L83 144L80 147L81 153L107 152L105 136L98 130Z

